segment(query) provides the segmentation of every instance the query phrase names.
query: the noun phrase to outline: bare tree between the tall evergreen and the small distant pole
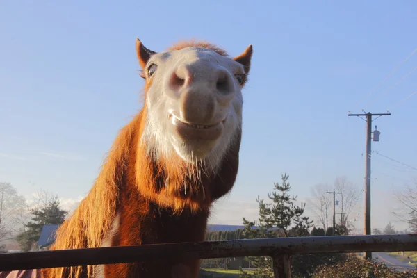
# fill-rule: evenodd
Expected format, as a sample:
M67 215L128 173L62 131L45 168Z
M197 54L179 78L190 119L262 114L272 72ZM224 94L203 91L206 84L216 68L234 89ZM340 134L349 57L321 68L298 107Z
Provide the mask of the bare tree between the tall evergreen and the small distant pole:
M333 198L326 193L330 190L332 190L332 187L327 183L318 183L311 188L311 195L313 196L313 201L310 202L312 211L325 231L329 227L329 219L332 219L330 213L332 213Z

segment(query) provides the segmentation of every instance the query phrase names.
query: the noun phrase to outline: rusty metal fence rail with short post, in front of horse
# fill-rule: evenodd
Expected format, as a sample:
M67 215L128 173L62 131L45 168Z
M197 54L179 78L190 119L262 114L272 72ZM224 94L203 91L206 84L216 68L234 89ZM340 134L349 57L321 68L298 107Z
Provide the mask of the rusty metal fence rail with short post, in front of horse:
M75 265L272 256L275 277L291 277L289 256L314 253L417 251L417 235L308 236L169 243L0 254L0 271Z

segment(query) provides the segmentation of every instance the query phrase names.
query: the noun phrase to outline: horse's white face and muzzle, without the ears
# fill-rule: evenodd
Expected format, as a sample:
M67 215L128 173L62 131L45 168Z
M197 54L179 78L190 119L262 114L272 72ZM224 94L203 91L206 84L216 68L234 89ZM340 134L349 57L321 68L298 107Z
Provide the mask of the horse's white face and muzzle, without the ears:
M188 163L220 164L240 133L243 74L242 64L202 47L150 56L143 67L149 150L157 158L176 152Z

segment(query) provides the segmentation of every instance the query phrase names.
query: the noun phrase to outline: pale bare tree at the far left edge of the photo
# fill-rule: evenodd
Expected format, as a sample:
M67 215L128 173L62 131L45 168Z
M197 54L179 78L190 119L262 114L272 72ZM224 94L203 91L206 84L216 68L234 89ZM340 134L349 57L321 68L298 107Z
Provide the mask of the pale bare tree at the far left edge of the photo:
M26 208L26 200L10 183L0 183L0 242L13 238L22 229L20 213Z

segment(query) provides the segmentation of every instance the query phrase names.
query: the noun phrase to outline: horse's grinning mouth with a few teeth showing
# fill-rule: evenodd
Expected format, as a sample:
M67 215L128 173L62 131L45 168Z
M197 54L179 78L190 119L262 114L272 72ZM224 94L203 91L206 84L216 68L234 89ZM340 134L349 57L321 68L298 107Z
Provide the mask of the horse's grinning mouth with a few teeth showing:
M224 129L224 122L214 124L200 124L184 122L174 114L170 114L171 123L183 140L217 140Z

